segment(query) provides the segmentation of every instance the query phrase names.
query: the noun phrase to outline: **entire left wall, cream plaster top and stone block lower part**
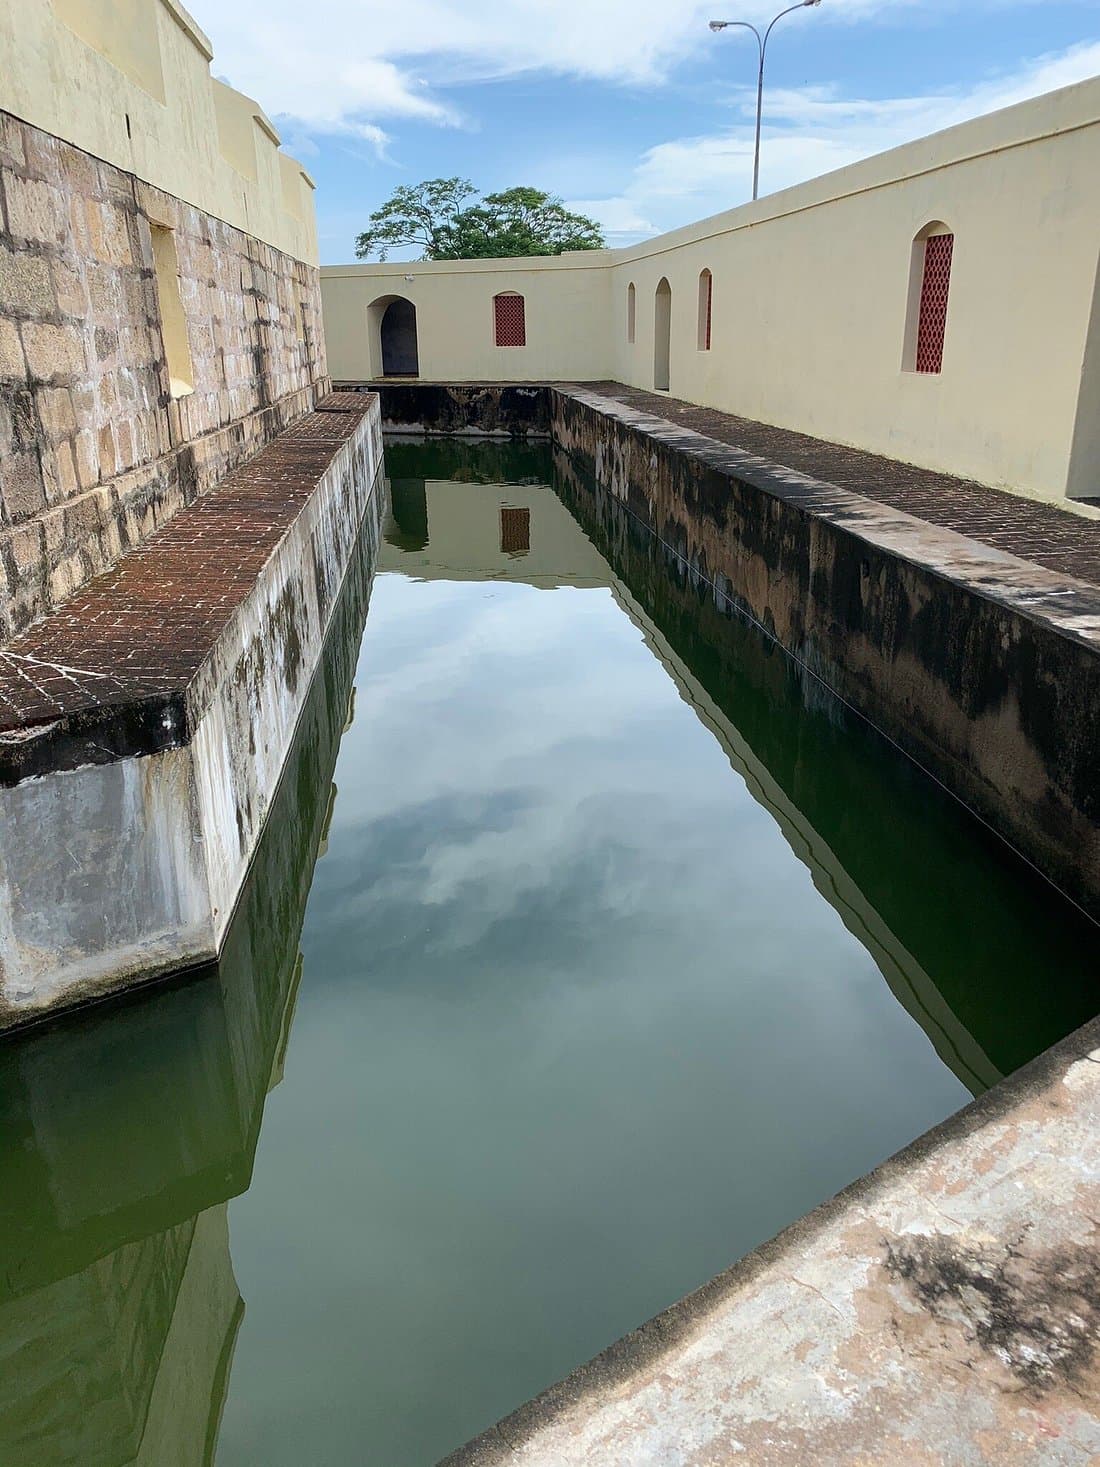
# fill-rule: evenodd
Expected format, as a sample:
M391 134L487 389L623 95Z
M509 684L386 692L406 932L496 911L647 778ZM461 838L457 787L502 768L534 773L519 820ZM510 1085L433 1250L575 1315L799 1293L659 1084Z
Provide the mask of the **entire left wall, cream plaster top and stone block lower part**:
M312 185L177 0L0 0L0 643L312 408Z

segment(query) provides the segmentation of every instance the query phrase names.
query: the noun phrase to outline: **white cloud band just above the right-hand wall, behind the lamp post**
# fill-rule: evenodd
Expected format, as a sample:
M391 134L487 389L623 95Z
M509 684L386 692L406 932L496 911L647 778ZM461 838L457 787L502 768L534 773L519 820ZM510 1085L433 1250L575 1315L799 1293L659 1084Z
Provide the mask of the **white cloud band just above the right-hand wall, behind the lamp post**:
M766 97L761 192L776 192L1099 72L1100 43L1088 43L1038 57L1011 76L967 91L887 98L842 97L821 87L771 91ZM738 94L733 110L736 123L720 133L650 148L622 194L572 200L572 207L600 220L610 244L626 244L744 202L752 179L755 92Z

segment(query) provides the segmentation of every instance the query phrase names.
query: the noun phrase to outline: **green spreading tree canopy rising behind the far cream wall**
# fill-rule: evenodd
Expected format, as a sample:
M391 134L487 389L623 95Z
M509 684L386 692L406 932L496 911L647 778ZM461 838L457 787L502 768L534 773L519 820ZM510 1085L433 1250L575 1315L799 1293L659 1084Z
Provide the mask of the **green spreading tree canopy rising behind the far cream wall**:
M355 241L359 260L386 260L390 249L417 246L421 260L499 260L603 249L600 226L571 213L560 198L537 188L484 194L468 179L427 179L400 185L370 216Z

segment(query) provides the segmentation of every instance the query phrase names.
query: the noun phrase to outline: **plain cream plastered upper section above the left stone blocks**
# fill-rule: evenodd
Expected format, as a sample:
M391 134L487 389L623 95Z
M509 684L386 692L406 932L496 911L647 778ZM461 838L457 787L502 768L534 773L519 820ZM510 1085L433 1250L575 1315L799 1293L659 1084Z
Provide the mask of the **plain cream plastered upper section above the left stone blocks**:
M177 0L0 0L0 110L317 264L314 185Z

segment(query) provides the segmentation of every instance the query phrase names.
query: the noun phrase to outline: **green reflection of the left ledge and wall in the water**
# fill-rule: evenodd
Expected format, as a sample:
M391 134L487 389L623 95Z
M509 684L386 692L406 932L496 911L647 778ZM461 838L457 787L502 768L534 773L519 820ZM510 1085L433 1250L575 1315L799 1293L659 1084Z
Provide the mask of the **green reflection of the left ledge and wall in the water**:
M368 511L217 970L0 1046L0 1463L214 1460L251 1178L384 506Z

